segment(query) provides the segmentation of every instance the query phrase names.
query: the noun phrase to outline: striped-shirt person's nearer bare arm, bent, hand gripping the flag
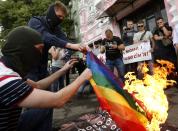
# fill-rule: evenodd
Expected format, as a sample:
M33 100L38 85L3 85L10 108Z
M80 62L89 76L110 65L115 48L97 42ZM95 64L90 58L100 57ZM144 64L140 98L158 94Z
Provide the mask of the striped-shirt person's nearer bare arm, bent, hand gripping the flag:
M33 89L33 91L20 103L20 107L33 108L60 108L62 107L79 89L86 80L91 79L92 73L86 69L73 83L56 93Z

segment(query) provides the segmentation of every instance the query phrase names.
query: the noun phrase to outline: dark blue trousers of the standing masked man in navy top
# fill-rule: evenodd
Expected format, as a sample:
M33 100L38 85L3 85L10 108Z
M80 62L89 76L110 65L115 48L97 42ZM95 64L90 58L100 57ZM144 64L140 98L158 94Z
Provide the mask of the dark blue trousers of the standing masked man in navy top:
M47 74L45 74L47 76ZM27 78L41 79L38 70L33 70ZM50 90L50 88L48 89ZM52 131L53 109L25 109L19 118L17 131Z

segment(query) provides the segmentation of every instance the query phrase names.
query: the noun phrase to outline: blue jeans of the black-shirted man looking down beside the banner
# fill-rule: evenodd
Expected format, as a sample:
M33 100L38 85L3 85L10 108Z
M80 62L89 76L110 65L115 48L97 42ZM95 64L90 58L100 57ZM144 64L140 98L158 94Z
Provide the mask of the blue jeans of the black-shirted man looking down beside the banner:
M114 67L116 67L121 80L124 82L125 66L124 66L122 58L117 58L115 60L108 60L108 59L106 59L106 66L112 72L114 72Z

